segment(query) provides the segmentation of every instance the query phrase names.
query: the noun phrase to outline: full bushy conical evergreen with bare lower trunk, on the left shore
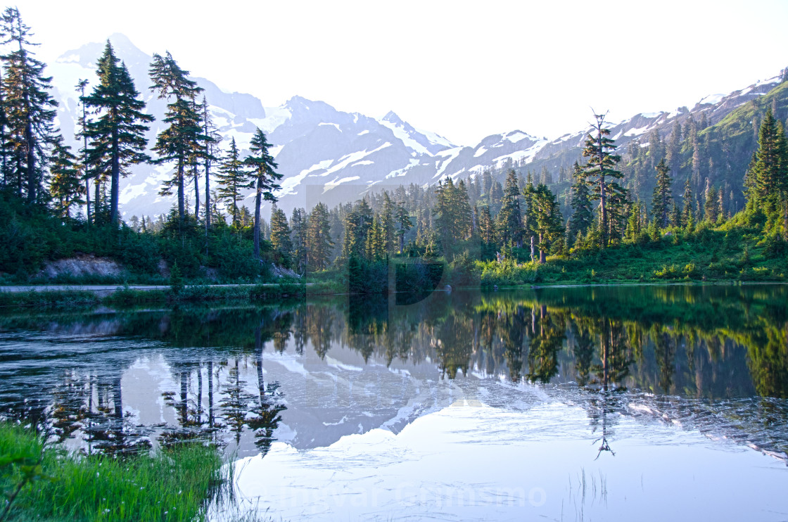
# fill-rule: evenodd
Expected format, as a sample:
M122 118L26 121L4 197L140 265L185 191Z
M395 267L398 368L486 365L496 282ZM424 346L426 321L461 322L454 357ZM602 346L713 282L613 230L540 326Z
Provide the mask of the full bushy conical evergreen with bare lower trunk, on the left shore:
M154 118L141 112L145 102L139 98L132 76L126 65L115 57L109 40L104 54L99 58L99 84L82 102L97 111L95 121L87 121L85 134L91 139L89 162L97 166L99 172L110 174L110 222L117 226L118 198L120 196L121 174L128 173L128 166L150 160L144 154L147 147L144 123Z

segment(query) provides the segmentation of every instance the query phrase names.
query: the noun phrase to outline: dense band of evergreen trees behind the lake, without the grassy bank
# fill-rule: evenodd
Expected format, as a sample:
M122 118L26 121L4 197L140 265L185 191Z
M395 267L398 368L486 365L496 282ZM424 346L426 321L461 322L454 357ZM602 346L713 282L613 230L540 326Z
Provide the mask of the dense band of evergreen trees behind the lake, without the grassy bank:
M788 145L775 117L783 108L776 103L757 121L749 168L738 173L742 205L730 183L715 183L710 175L712 159L704 151L722 138L711 131L705 113L700 121L689 114L683 125L677 118L667 140L653 131L648 147L635 140L626 151L617 149L605 116L595 114L582 155L557 175L545 166L532 172L524 160L509 159L500 170L464 179L446 177L431 186L370 192L331 209L323 203L296 208L289 218L274 204L266 222L262 201L276 203L281 174L265 133L256 130L246 157L235 139L222 147L203 89L171 54L154 54L150 66L151 90L165 100L166 110L165 129L148 144L145 132L154 117L145 112L128 69L106 43L92 88L87 80L76 85L82 114L75 138L82 147L75 154L54 129L51 79L30 50L30 30L17 9L3 13L2 34L0 212L12 223L5 237L17 244L22 243L13 229L16 216L43 212L80 237L77 243L87 252L101 250L105 241L114 246L105 245L104 250L118 255L124 241L117 240L117 234L126 238L125 248L147 244L150 248L139 248L150 252L149 258L132 263L149 271L156 255L177 261L190 276L200 267L221 267L228 278L255 278L271 262L298 274L340 267L356 272L362 287L377 281L372 286L380 289L395 256L443 260L466 269L471 259L542 264L550 255L581 258L616 245L644 244L726 223L757 227L768 240L768 255L788 252ZM132 216L125 223L119 208L121 178L142 162L172 167L160 193L176 195L176 204L169 215ZM679 194L674 185L688 165L691 173ZM193 212L185 196L191 181ZM254 211L242 204L250 188ZM229 223L220 205L229 213ZM58 248L61 254L68 250ZM20 255L12 268L20 270L20 264L42 255ZM4 271L9 271L7 264Z

